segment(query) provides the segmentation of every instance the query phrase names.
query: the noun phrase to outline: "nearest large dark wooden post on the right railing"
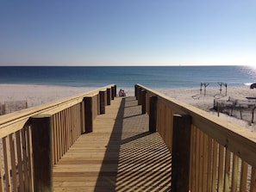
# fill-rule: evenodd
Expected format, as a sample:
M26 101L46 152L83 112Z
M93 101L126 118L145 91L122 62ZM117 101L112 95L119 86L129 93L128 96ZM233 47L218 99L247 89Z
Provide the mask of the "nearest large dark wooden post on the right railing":
M172 192L188 192L190 184L190 115L173 115Z

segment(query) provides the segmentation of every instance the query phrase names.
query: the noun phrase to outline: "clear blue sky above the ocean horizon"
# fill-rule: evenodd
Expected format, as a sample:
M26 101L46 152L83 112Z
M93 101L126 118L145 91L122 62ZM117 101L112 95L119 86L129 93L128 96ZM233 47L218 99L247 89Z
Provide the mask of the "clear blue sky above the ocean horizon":
M255 0L0 0L0 65L256 65Z

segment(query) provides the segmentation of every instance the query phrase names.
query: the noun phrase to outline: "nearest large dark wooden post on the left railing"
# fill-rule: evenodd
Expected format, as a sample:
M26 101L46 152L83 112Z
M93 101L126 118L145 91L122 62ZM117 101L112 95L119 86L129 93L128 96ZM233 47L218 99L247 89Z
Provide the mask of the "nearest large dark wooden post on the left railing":
M53 191L53 152L51 115L31 117L34 158L34 191Z

